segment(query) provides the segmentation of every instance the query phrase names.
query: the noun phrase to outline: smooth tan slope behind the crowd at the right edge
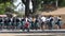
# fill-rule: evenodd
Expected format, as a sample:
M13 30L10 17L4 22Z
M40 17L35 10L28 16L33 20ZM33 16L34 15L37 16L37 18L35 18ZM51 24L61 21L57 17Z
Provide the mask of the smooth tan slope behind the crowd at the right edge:
M65 15L65 7L57 8L50 13L42 12L41 15Z

